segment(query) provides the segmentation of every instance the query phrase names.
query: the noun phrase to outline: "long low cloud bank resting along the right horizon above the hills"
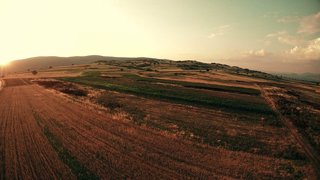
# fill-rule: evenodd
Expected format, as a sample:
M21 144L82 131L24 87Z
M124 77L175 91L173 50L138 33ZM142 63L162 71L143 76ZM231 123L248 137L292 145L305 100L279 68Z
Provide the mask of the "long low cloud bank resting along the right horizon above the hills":
M280 53L265 49L244 51L236 56L228 56L216 61L242 68L279 72L319 72L319 40L309 41L307 47L296 46Z

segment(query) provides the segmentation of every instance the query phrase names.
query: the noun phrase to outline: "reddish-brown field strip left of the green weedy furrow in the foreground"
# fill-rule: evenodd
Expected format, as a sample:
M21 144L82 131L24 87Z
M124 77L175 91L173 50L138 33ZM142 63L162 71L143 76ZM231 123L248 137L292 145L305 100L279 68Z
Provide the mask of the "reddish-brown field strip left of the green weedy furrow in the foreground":
M13 82L16 81L16 82ZM0 179L75 179L37 125L20 79L0 93ZM25 86L26 87L26 86Z

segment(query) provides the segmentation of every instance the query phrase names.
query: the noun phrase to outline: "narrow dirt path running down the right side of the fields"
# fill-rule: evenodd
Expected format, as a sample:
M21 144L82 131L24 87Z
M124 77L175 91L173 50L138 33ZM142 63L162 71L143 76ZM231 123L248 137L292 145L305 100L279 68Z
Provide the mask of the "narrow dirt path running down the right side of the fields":
M262 86L260 86L261 89L261 94L264 96L264 98L267 100L267 102L269 103L270 107L273 109L273 111L278 115L278 117L281 119L281 121L283 122L283 124L290 130L290 132L292 133L292 135L295 137L296 141L298 142L298 144L302 147L302 149L305 152L306 157L309 159L309 161L311 162L311 164L314 167L315 172L318 174L318 176L320 177L320 160L319 157L316 155L316 153L314 152L313 148L304 141L304 139L301 137L300 134L297 133L297 128L292 124L292 122L290 122L286 117L284 117L279 111L278 109L275 107L275 104L272 100L271 97L267 96L265 94L265 91L263 89Z

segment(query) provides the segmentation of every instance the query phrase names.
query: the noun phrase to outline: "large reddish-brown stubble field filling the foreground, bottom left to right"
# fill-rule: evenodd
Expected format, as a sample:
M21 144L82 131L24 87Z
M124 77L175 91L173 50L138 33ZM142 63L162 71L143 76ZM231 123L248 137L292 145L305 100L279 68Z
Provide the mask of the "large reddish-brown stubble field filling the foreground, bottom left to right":
M5 87L0 100L1 178L315 178L310 165L181 139L38 85Z

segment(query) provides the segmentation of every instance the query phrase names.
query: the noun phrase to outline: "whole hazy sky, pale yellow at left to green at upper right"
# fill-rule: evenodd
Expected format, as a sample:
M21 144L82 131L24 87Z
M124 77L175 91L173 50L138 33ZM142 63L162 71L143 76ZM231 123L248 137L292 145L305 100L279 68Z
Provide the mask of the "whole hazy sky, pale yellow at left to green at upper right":
M319 72L320 0L1 0L0 61L104 55Z

